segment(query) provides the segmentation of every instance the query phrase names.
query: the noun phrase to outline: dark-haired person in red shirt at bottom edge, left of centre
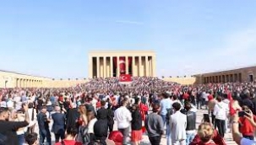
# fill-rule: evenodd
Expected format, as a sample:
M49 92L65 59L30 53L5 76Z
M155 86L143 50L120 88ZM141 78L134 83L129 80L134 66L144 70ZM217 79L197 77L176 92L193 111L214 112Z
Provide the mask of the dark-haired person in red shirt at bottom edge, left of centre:
M78 134L78 129L74 127L68 127L67 136L63 140L63 142L57 142L55 145L83 145L81 142L75 141L75 137Z

